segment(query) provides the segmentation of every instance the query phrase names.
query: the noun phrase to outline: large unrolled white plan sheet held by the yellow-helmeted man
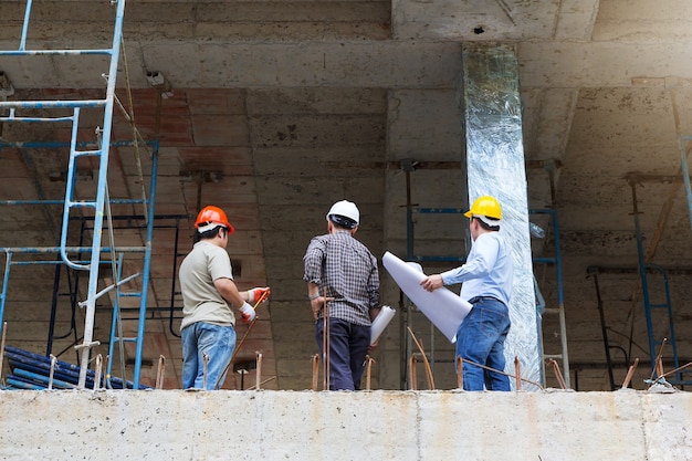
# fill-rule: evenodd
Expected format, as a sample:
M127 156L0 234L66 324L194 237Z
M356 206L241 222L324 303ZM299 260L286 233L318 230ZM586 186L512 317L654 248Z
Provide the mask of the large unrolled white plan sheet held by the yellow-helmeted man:
M397 285L418 306L420 312L450 342L454 343L459 325L469 314L472 305L444 286L432 292L420 286L420 282L427 276L420 264L401 261L388 251L382 256L382 264L395 282L397 282Z

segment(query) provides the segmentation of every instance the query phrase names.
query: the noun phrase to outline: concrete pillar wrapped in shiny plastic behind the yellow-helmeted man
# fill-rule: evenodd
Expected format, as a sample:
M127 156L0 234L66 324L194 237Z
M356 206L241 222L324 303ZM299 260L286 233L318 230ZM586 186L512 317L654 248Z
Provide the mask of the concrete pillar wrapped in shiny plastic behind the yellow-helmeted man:
M480 196L490 195L500 200L504 218L501 232L514 256L514 292L510 303L512 329L505 347L506 371L514 373L514 358L518 357L522 377L539 381L542 366L515 48L487 43L463 45L459 97L468 199L472 202ZM522 389L532 387L522 385Z

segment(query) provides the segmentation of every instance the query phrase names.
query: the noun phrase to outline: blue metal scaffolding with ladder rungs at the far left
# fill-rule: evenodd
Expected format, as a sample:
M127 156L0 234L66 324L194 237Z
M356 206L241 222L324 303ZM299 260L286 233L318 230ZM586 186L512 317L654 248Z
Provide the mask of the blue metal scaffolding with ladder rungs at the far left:
M39 254L54 254L57 253L60 255L61 263L65 264L67 268L73 269L75 271L86 271L88 272L88 287L86 300L81 303L85 307L85 323L84 323L84 336L82 339L82 344L75 346L78 349L82 349L82 358L81 358L81 367L80 367L80 379L77 387L83 388L86 381L86 374L90 365L90 356L91 348L98 344L98 342L94 340L94 316L96 310L96 300L105 294L111 287L98 291L98 269L99 265L104 263L102 261L101 253L107 252L111 254L111 260L108 263L114 268L114 284L113 286L116 290L125 283L126 280L130 280L128 276L125 280L119 280L119 274L122 271L122 261L123 253L127 252L141 252L144 253L144 269L141 271L141 292L138 294L140 297L140 307L139 307L139 324L137 328L137 348L135 356L135 370L134 370L134 388L138 388L139 383L139 374L141 368L141 355L144 348L144 324L146 319L146 301L147 301L147 290L148 290L148 274L149 274L149 263L151 256L151 224L153 224L153 216L154 216L154 192L156 190L156 163L157 163L157 150L158 146L155 146L153 158L151 158L151 180L150 180L150 198L147 200L143 197L141 200L109 200L107 197L107 169L108 169L108 154L109 147L117 143L112 143L112 127L113 127L113 109L114 103L116 101L115 97L115 85L118 70L118 61L119 61L119 51L122 45L122 31L123 31L123 21L124 21L124 12L125 12L125 0L111 0L111 6L115 9L114 14L114 31L113 38L111 42L111 48L103 49L82 49L82 50L54 50L54 49L31 49L27 45L29 25L31 22L32 15L32 0L27 0L25 3L25 12L21 32L21 39L17 50L9 51L0 51L0 56L17 56L17 57L25 57L31 59L31 56L51 56L54 59L59 59L61 56L87 56L87 55L102 55L106 56L108 60L108 70L107 74L104 75L106 80L106 90L105 96L103 98L97 99L73 99L73 101L7 101L7 97L0 98L0 123L69 123L72 124L71 129L71 140L67 143L67 146L64 146L64 143L42 143L42 142L33 142L33 143L0 143L0 148L3 147L15 147L19 149L27 148L52 148L52 147L69 147L70 148L70 157L69 157L69 166L67 166L67 177L66 177L66 187L65 187L65 197L62 201L63 212L62 212L62 226L60 231L60 245L56 248L4 248L0 249L0 251L6 254L6 272L4 280L2 286L2 294L0 295L0 328L2 328L2 317L4 315L6 302L7 302L7 292L9 284L9 273L10 266L13 264L12 255L17 253L29 254L29 253L39 253ZM0 70L2 71L2 70ZM7 80L7 78L6 78ZM7 82L6 82L7 83ZM7 93L7 90L6 90ZM81 109L101 109L103 113L103 125L97 129L97 143L95 145L88 143L80 143L77 140L78 133L78 124L80 124L80 114ZM53 114L48 117L35 117L22 115L27 112L35 112L40 111L41 113L46 112L49 114ZM9 115L6 115L9 112ZM71 115L62 115L64 113L71 112ZM59 115L56 115L57 113ZM138 145L138 140L135 140L134 144ZM120 143L123 146L132 146L132 142ZM77 176L77 161L80 159L91 158L98 163L98 174L97 174L97 186L95 197L91 199L78 199L75 191L75 181ZM2 203L4 205L20 205L27 206L32 205L34 201L21 201L21 200L7 200ZM45 201L38 200L35 202L41 202L43 205L53 203L54 201ZM104 226L104 214L109 214L111 203L119 202L119 203L145 203L146 207L146 217L147 217L147 237L146 244L144 247L135 247L135 248L116 248L113 242L113 230L108 227L108 235L111 237L109 247L102 247L102 233ZM91 247L69 247L67 244L67 233L69 233L69 223L72 213L76 213L82 210L91 210L94 214L94 229L92 233L92 242ZM88 259L81 260L75 255L86 254ZM54 261L53 261L54 262ZM42 263L38 261L38 263ZM118 294L119 296L119 294ZM118 297L116 296L116 298ZM118 303L115 303L115 311L117 311ZM114 312L115 316L115 312ZM111 343L115 343L117 340L116 337L111 338Z

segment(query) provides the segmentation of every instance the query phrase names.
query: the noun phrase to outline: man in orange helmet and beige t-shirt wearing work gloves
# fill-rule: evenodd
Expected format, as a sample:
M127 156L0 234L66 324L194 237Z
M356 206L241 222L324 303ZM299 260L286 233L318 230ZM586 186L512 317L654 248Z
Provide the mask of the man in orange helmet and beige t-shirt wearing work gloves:
M235 307L244 323L255 318L253 304L266 301L270 289L239 291L226 251L235 229L226 212L208 206L195 221L195 245L179 270L182 293L182 388L213 389L223 385L235 348ZM205 384L207 385L205 387Z

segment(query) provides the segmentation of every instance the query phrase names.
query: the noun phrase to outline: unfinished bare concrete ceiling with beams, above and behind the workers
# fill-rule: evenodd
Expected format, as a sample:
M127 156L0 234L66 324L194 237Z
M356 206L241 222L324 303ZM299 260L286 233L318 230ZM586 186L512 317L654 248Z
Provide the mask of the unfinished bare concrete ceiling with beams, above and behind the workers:
M24 3L0 2L0 49L18 48ZM126 88L133 88L135 123L149 138L156 92L146 76L159 72L170 84L159 128L156 210L195 214L207 202L229 210L239 229L229 247L242 263L239 284L270 283L275 293L271 331L262 338L273 338L279 386L300 388L305 379L291 377L304 377L295 369L301 354L314 348L301 256L310 237L323 231L326 208L342 197L355 199L371 223L359 235L374 252L401 250L406 187L398 165L407 158L430 167L413 174L415 201L462 206L461 171L432 166L461 155L461 44L515 43L530 207L559 211L570 356L586 364L581 386L604 388L587 268L619 268L607 270L601 283L614 328L621 329L612 340L631 347L635 333L627 328L633 322L633 339L647 349L641 314L631 321L629 301L637 286L632 184L644 248L652 261L679 270L673 305L682 322L692 318L685 314L690 218L674 181L681 178L680 136L692 134L691 13L686 0L130 1L118 94L128 106ZM34 1L28 44L108 48L112 23L105 1ZM84 98L101 93L107 66L93 56L0 56L0 72L14 85L10 99ZM115 123L115 138L132 138L122 117ZM93 138L98 124L97 115L85 116L84 138ZM67 132L6 124L2 138L66 140ZM114 150L112 196L138 197L136 153ZM60 197L65 160L39 160L43 154L0 150L3 198ZM87 178L80 187L88 193L94 186ZM32 243L15 231L17 214L25 213L0 216L0 247L52 244L60 211L38 211L34 219L53 232L32 230ZM182 249L188 235L180 238ZM170 302L165 239L170 237L161 239L161 261L153 268L157 305ZM535 250L542 251L539 243ZM545 295L555 300L555 281L545 277ZM304 333L296 338L296 331ZM555 325L546 331L548 343L559 336ZM692 326L683 323L681 355L692 357L690 335ZM396 375L394 368L381 365L380 374Z

